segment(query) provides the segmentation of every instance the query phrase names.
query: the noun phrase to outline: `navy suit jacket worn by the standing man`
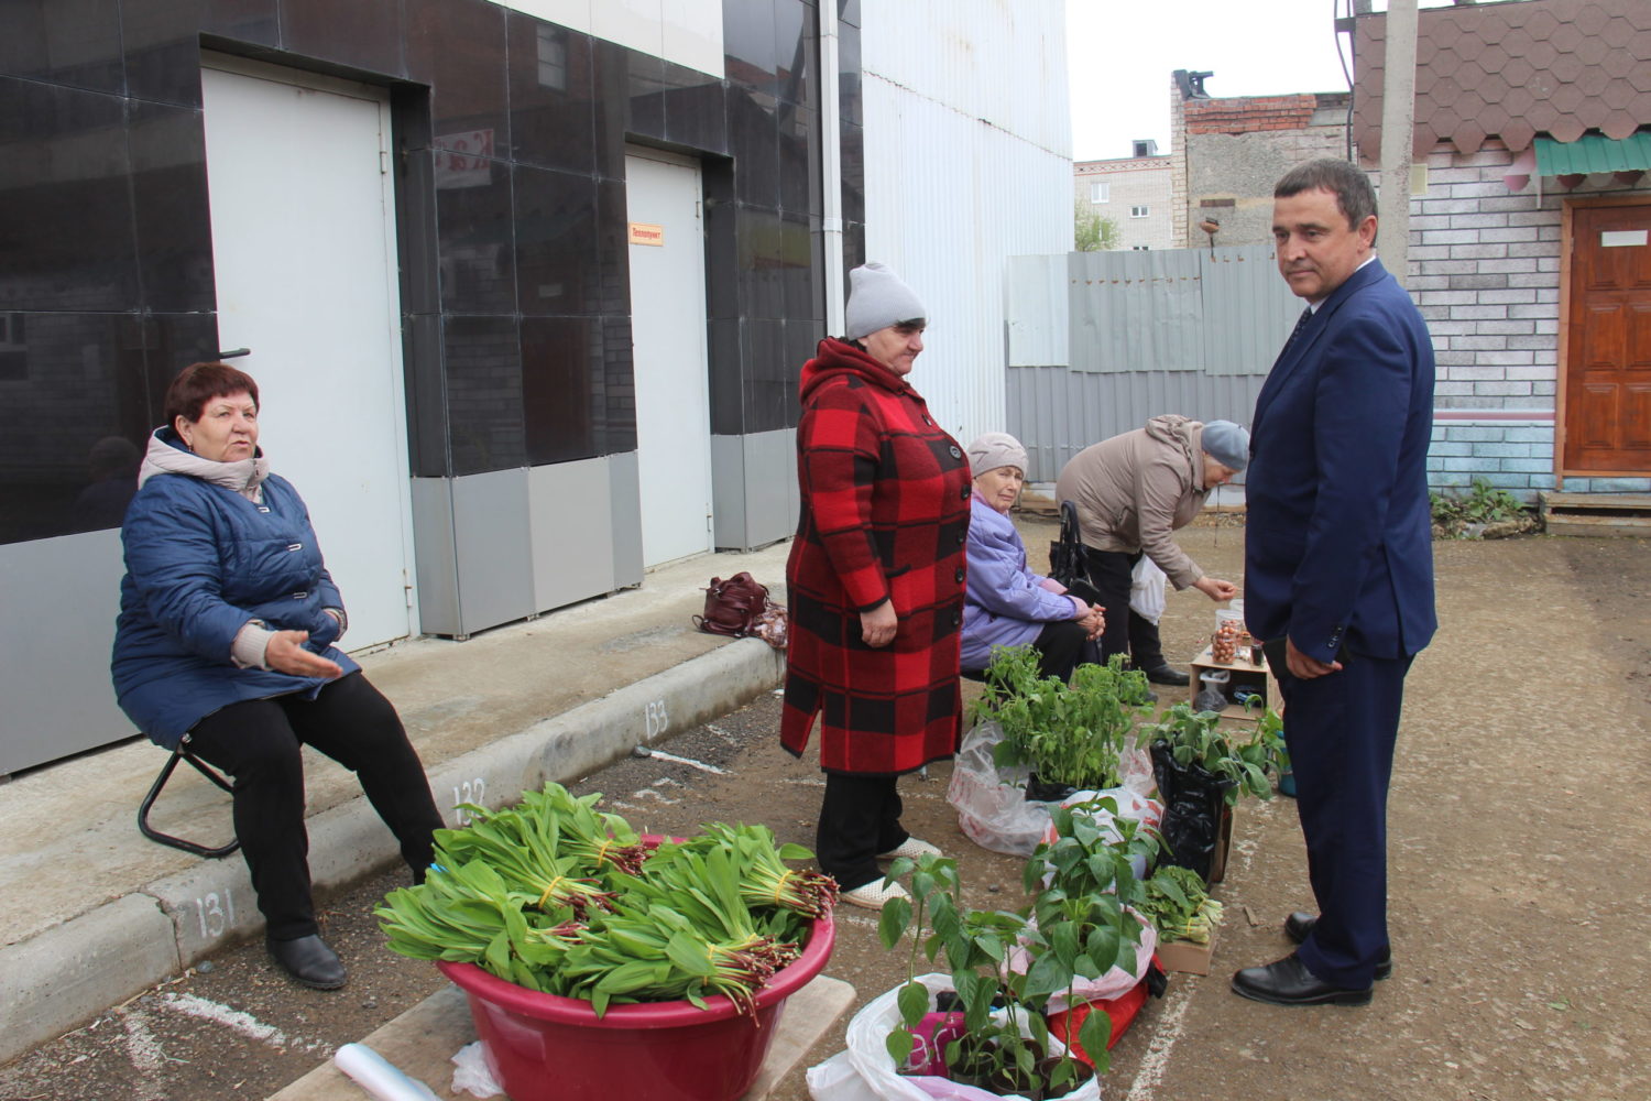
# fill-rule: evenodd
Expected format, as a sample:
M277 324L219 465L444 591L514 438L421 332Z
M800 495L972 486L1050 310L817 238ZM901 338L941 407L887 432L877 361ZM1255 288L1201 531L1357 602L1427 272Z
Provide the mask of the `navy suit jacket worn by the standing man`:
M1273 363L1250 424L1245 619L1321 662L1433 637L1433 342L1372 261Z

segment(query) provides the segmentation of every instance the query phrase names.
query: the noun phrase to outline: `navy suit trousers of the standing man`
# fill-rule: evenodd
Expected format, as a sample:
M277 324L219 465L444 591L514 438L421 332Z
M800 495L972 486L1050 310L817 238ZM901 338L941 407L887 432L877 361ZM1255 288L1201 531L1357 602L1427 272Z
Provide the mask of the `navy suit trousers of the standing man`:
M1319 905L1298 954L1319 979L1364 989L1388 946L1387 784L1412 659L1344 650L1339 660L1341 672L1301 680L1284 664L1283 639L1266 644L1284 697L1296 810Z

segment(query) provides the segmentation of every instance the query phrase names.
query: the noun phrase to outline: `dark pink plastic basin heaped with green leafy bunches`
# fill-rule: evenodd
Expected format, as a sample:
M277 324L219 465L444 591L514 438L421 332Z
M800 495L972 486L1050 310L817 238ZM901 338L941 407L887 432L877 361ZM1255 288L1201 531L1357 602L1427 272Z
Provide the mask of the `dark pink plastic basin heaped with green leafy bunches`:
M835 883L761 825L639 837L558 784L462 807L423 885L376 910L391 951L464 989L517 1101L731 1101L784 1000L826 966Z

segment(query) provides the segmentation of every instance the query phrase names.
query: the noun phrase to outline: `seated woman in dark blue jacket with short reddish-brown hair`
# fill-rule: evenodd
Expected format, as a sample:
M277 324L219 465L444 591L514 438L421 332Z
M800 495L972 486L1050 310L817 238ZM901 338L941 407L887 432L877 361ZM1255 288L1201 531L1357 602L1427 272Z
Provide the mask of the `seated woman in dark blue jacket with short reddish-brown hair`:
M114 640L121 708L165 748L188 743L234 777L234 832L271 956L342 987L310 901L309 744L353 771L421 880L442 825L401 720L332 644L347 617L309 512L258 449L258 383L195 363L167 390L121 540Z

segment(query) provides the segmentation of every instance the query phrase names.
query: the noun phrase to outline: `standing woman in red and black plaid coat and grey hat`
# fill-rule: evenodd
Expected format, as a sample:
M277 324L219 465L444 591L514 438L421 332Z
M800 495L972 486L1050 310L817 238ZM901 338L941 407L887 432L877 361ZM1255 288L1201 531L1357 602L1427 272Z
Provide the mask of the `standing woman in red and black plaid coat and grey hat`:
M781 743L801 756L821 716L816 855L877 910L905 895L878 860L939 852L900 825L895 781L958 749L969 464L905 380L923 305L882 264L850 281L847 340L802 366Z

